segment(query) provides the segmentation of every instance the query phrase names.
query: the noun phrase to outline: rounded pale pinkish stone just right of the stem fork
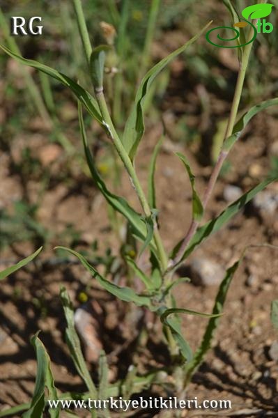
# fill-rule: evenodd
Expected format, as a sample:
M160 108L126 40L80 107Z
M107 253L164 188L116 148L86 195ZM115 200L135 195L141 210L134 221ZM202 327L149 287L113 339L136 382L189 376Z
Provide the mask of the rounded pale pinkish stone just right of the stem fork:
M192 282L201 286L215 286L224 278L225 270L208 258L194 258L191 263Z

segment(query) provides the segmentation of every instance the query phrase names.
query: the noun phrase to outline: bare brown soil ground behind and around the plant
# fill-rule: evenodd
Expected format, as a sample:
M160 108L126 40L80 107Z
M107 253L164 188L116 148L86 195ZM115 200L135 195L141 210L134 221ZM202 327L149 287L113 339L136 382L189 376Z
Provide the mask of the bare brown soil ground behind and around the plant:
M162 104L162 112L165 120L170 120L170 127L169 110L174 119L180 112L189 112L192 127L197 127L203 117L202 112L198 111L198 86L191 86L190 100L185 98L185 92L181 93L181 84L186 76L186 69L181 61L178 63L172 67L171 83ZM222 112L226 115L229 102L217 99L213 93L208 94L215 117ZM229 156L229 171L219 180L205 220L214 217L226 206L226 185L236 185L245 192L268 173L272 147L277 141L277 116L275 109L256 116L250 123ZM76 113L72 120L76 123ZM160 123L148 123L146 137L141 143L137 170L144 187L151 150L160 135L160 130ZM182 151L190 158L196 173L197 186L203 191L211 171L209 162L204 162L206 135L210 130L215 130L215 125L205 126L201 141L188 146L168 137L158 157L157 201L160 207L162 238L169 250L183 237L190 224L191 215L190 183L183 165L173 155L173 151ZM14 169L15 162L18 159L20 162L19 150L26 141L26 135L18 134L13 139L10 150L1 150L1 207L10 208L15 200L22 199L26 194L29 201L36 201L40 192L40 178L31 176L25 183L24 178ZM88 249L98 240L100 252L111 247L113 254L116 254L118 248L109 227L106 204L95 190L93 182L75 166L72 168L72 181L59 181L57 173L60 175L64 169L65 158L61 148L49 148L47 133L42 128L33 127L33 132L30 131L28 134L28 141L41 164L44 164L42 155L45 157L47 151L55 155L49 164L51 180L40 200L39 222L46 229L56 233L63 231L66 225L72 224L81 233L77 249ZM45 163L47 164L48 162ZM56 176L58 180L55 180ZM278 185L272 184L268 190L277 195ZM125 176L121 192L132 206L139 208L137 198ZM55 264L56 254L53 247L63 244L58 235L50 239L39 261L1 283L0 410L8 405L26 403L32 396L36 360L29 338L39 329L40 338L52 359L56 387L63 392L84 389L65 345L65 320L59 300L59 288L63 284L68 289L75 307L78 307L81 304L78 295L87 289L91 277L77 263ZM254 204L250 203L226 228L197 249L185 264L185 271L190 271L192 260L196 258L208 258L226 269L238 259L247 245L263 243L278 245L277 211L272 215L262 215ZM33 246L28 242L16 242L10 248L4 248L0 268L5 268L10 261L17 260L31 251ZM266 417L268 412L278 410L278 359L275 361L270 357L270 347L278 339L277 331L270 322L270 304L278 297L277 254L277 250L267 247L247 251L231 284L225 314L215 334L213 349L193 378L187 392L189 398L198 396L200 401L229 399L233 412L242 411L241 415L237 415L242 417L248 411L249 417ZM53 263L49 263L49 259ZM180 284L176 289L179 307L206 312L212 309L216 293L215 285L198 286L186 283ZM139 370L146 371L151 366L163 364L169 359L167 348L158 341L157 336L151 337L144 350L139 350L139 354L134 357L132 348L138 332L138 314L135 319L132 315L128 316L124 304L115 302L95 284L91 285L88 294L90 300L97 300L100 305L100 311L95 317L102 330L101 343L107 352L114 379L123 378L132 361L137 362ZM137 309L131 309L131 313L132 311ZM119 327L118 323L123 320L123 316L125 327ZM192 348L196 348L200 341L205 323L206 320L203 318L184 318L183 330ZM135 331L131 332L134 329ZM92 373L96 373L95 364L91 364L90 367ZM254 410L254 413L250 410ZM162 412L150 413L148 416L163 417ZM201 415L197 415L196 411L191 411L183 416L205 417L213 414L210 412L210 415L206 415L202 412ZM218 412L218 416L226 415L224 412Z

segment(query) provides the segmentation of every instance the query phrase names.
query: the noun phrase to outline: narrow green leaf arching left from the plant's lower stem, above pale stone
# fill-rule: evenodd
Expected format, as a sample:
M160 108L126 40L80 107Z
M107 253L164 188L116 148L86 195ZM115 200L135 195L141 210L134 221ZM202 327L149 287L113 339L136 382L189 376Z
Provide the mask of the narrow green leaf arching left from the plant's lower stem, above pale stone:
M79 261L81 261L82 265L84 265L84 268L88 270L88 272L91 273L93 277L98 281L100 286L105 288L109 293L112 295L118 297L119 299L125 301L125 302L134 302L137 304L137 306L147 306L150 308L150 299L148 296L144 295L137 295L132 289L125 288L121 286L117 286L116 284L112 283L111 281L105 279L102 277L95 268L91 264L86 261L86 259L76 251L73 251L73 249L65 248L65 247L56 247L60 249L64 249L65 251L68 251L70 254L73 254L76 256Z

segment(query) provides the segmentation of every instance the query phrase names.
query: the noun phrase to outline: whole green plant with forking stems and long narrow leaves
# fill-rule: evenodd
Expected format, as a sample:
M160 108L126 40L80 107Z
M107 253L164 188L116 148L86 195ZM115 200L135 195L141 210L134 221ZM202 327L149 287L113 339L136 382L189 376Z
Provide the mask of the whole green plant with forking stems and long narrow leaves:
M240 265L241 260L234 263L231 268L227 270L222 284L219 286L212 314L201 314L184 307L176 307L176 301L172 291L174 286L180 284L180 280L177 279L175 272L185 259L192 254L192 251L194 251L194 249L201 244L201 242L206 240L212 233L218 231L222 228L222 226L229 222L231 217L233 217L233 215L245 206L247 202L256 196L258 192L263 190L273 181L277 180L277 176L263 180L260 184L256 185L256 187L249 190L249 192L243 194L240 199L228 206L215 219L212 219L203 226L200 226L210 196L213 194L215 183L231 148L233 148L236 141L238 141L242 130L244 130L251 118L258 114L259 111L267 109L270 106L277 105L278 98L266 100L265 102L256 104L256 106L251 107L237 121L240 98L242 97L242 87L245 81L249 56L252 50L252 43L248 43L253 35L251 27L247 35L247 45L246 47L242 47L240 49L240 69L235 86L233 102L231 104L229 121L226 125L224 137L222 138L221 150L217 156L217 161L210 176L210 180L208 181L208 186L203 198L199 196L199 193L196 190L194 174L192 173L192 169L187 161L187 158L181 153L178 153L177 155L183 163L185 171L190 178L190 184L192 187L192 222L190 229L186 231L183 240L178 242L170 254L167 254L160 236L160 229L158 227L159 208L157 208L156 205L154 181L155 162L157 154L160 150L161 141L157 144L157 147L154 150L153 158L150 164L148 176L148 197L142 188L135 169L137 150L140 141L144 136L145 130L144 106L148 98L148 92L150 91L151 85L155 81L156 77L174 58L176 58L176 56L182 54L187 47L192 45L192 43L196 41L199 36L201 36L201 34L206 32L209 24L207 24L200 33L186 42L185 45L176 49L176 51L162 59L162 61L158 62L146 73L137 89L134 104L132 105L132 109L130 111L130 116L125 123L125 129L121 132L116 129L111 118L111 112L109 111L103 88L103 79L105 77L105 57L106 54L109 54L110 48L107 45L92 47L86 28L81 2L79 0L74 0L73 3L75 6L82 43L84 45L86 61L88 63L88 72L90 73L93 82L94 95L91 95L89 91L86 91L81 85L77 84L77 82L73 81L63 73L54 70L47 65L38 63L37 61L24 59L22 56L15 54L13 51L4 46L1 46L1 48L7 54L17 59L20 63L30 65L31 67L36 68L61 82L61 84L70 88L72 93L74 93L79 100L79 125L82 134L86 161L91 171L91 176L95 185L105 197L107 205L111 206L113 210L120 213L128 223L130 235L132 235L132 238L134 238L136 242L134 247L132 247L135 257L131 257L130 254L123 251L122 263L127 265L127 270L129 272L133 272L134 277L136 276L142 281L144 291L136 293L134 288L132 288L132 285L118 286L118 284L115 284L114 281L111 281L107 277L100 274L100 272L96 270L95 266L88 263L82 254L79 254L73 249L63 247L59 247L59 249L68 251L68 253L77 257L84 268L86 268L86 270L91 273L92 277L98 281L98 284L100 284L102 288L105 288L105 290L109 293L124 302L132 302L136 304L137 307L144 307L144 309L148 309L160 318L172 360L169 367L165 369L168 374L172 374L176 377L175 382L172 383L172 390L175 391L177 396L182 396L188 383L190 382L190 379L192 378L194 371L196 371L199 367L203 361L203 357L210 348L210 343L217 327L219 316L222 315L224 309L224 302L231 284L231 279L233 278L233 274L237 270L238 265ZM238 16L238 14L235 13L235 16ZM238 22L238 20L235 19L234 22ZM146 65L144 64L144 67L145 66ZM134 188L134 192L137 194L137 198L141 204L142 213L134 210L128 201L123 199L121 196L112 193L107 188L105 181L102 180L86 137L82 104L95 121L98 121L111 140L111 144L114 146L118 156L121 158L123 167L130 177L130 182ZM148 251L150 259L150 269L148 271L142 270L139 265L139 258L145 251ZM137 376L134 369L128 373L128 376L126 376L124 381L116 382L113 385L110 385L107 379L107 362L105 355L101 355L100 383L97 387L95 382L93 382L90 373L88 373L88 369L86 368L86 362L84 361L82 349L74 327L73 307L64 289L61 290L61 300L65 311L65 318L68 323L66 331L68 347L70 349L73 362L75 363L75 367L79 375L82 376L88 389L86 394L70 394L71 397L105 398L107 396L118 396L119 394L128 394L127 396L131 396L132 394L141 391L144 387L149 387L153 382L162 384L163 386L165 383L165 377L163 378L164 375L162 376L160 370L157 370L154 373L149 373L148 376ZM183 335L180 318L178 316L179 314L189 314L210 318L208 326L203 334L201 345L195 353L192 353L190 345ZM63 399L68 396L68 394L63 394L61 396L58 395L56 389L54 388L54 380L50 370L49 357L45 352L43 344L38 339L38 335L33 337L32 343L36 348L38 358L38 376L40 378L37 378L36 380L35 394L31 404L22 406L21 410L28 410L24 414L25 418L43 416L43 410L45 409L45 403L47 400L45 397L45 387L48 389L48 398L50 399ZM17 408L17 411L18 410L19 408ZM13 412L14 411L15 409L13 409ZM52 417L59 416L59 410L49 410L49 413L51 413ZM105 417L109 417L109 411L105 411L103 413L105 414ZM3 416L5 416L5 412L2 414L0 413L0 417ZM96 416L95 410L92 411L92 416Z

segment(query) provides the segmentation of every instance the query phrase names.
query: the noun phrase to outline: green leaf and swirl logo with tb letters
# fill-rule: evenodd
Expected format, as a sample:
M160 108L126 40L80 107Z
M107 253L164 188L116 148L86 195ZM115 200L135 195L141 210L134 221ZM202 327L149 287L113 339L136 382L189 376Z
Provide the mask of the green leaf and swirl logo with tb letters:
M266 22L265 19L263 19L263 17L267 17L268 15L270 15L272 7L274 6L274 4L266 4L266 3L262 3L262 4L254 4L253 6L248 6L245 9L242 10L242 16L243 19L241 18L241 21L239 21L238 23L233 24L233 27L231 26L219 26L217 28L213 28L210 29L210 31L208 31L206 33L206 39L208 40L208 42L210 42L211 45L214 45L215 47L218 48L240 48L240 47L245 47L245 45L248 45L249 43L253 42L256 39L256 36L258 33L270 33L273 31L273 25L269 22ZM238 13L236 13L238 15ZM256 26L254 24L252 24L251 22L249 22L248 19L256 19L258 20L258 22L256 23ZM263 19L263 20L261 20ZM240 20L240 17L238 16L238 20ZM249 42L246 42L245 40L245 33L244 33L244 28L246 26L252 26L252 29L254 31L254 35L252 36L252 39L249 40ZM242 31L236 29L242 29ZM232 31L235 32L235 36L233 38L222 38L219 34L217 35L217 38L219 40L222 41L232 41L232 40L239 40L238 41L238 45L233 45L233 46L227 46L227 45L218 45L217 43L213 42L212 40L210 40L210 34L213 31L218 31L219 29L231 29Z

